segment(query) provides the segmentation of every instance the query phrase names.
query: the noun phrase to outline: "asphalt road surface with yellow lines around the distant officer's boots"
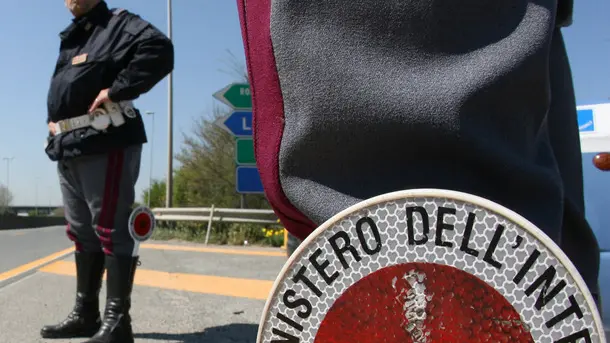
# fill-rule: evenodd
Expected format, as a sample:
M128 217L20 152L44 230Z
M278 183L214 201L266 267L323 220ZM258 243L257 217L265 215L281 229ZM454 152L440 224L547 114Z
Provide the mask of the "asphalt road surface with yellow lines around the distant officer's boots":
M20 275L0 282L0 342L84 341L39 335L73 306L74 258L65 252L71 247L61 227L0 232L0 278ZM150 241L140 258L132 295L136 342L254 343L286 253ZM104 298L105 287L102 309Z

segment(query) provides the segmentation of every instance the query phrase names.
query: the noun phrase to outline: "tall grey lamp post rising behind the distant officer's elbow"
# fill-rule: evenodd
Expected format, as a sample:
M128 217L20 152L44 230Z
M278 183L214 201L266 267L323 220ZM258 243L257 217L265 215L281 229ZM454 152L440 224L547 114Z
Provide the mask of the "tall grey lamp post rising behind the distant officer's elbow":
M172 0L167 0L167 36L172 39ZM172 207L174 179L174 128L173 128L173 73L167 78L167 182L165 189L165 207Z

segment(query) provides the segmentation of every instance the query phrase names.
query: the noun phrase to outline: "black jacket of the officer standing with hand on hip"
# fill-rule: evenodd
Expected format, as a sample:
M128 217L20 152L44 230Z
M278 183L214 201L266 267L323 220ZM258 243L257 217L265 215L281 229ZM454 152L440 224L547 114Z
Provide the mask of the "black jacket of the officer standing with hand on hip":
M157 28L127 10L110 10L101 1L60 33L59 58L51 79L48 122L81 116L103 89L113 102L148 92L174 67L172 42ZM92 127L49 138L53 161L105 153L146 142L139 111L125 124L104 131Z

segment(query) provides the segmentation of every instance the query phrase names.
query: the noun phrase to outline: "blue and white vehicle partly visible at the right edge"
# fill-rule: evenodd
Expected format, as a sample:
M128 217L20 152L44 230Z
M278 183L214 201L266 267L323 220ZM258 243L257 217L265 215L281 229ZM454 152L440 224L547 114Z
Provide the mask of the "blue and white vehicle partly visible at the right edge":
M595 159L610 158L610 103L579 106L577 109L585 211L601 249L602 314L604 328L610 332L610 172L595 165Z

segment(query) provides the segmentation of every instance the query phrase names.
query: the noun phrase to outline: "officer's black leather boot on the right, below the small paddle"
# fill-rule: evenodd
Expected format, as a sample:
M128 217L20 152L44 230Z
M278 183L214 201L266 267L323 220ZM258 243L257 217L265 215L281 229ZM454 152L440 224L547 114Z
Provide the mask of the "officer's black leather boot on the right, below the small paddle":
M106 256L107 291L104 320L99 331L84 343L133 343L131 291L137 257Z

